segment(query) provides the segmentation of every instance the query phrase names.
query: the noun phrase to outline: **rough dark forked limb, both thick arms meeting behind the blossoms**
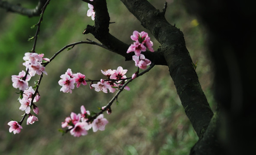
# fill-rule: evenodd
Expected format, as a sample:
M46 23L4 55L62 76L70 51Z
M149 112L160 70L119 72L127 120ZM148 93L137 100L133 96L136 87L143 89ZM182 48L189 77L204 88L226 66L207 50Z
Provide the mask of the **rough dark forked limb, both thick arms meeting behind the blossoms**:
M169 24L164 13L159 12L146 0L121 0L142 26L151 31L161 43L157 52L145 52L147 59L156 65L168 65L177 93L197 135L201 139L213 116L205 94L199 84L192 60L186 49L183 33ZM129 45L109 34L110 17L105 0L94 0L95 25L88 25L85 33L91 33L111 51L130 60L133 54L127 54ZM143 53L144 54L144 53Z

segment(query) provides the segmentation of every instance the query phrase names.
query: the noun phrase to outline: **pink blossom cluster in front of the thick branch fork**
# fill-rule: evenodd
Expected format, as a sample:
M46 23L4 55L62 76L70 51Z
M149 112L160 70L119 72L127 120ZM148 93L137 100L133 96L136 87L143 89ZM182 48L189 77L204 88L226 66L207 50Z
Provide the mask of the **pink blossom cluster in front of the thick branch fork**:
M133 31L133 35L131 35L131 39L135 42L130 45L126 53L134 52L133 61L135 65L141 69L146 69L148 65L151 64L149 59L145 59L145 56L141 54L141 52L145 52L146 48L148 48L151 52L154 52L152 48L153 42L150 40L148 33L142 31Z

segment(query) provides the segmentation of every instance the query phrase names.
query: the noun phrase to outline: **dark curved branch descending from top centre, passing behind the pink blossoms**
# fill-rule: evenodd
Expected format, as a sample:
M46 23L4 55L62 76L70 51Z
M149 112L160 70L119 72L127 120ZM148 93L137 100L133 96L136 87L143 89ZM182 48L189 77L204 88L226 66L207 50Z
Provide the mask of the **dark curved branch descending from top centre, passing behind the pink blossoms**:
M132 60L132 53L126 53L130 45L123 43L109 33L110 17L107 12L107 3L105 0L94 0L95 9L95 25L87 25L87 28L83 34L91 33L96 39L98 39L104 46L110 51L120 54L125 57L126 61ZM155 62L155 65L167 65L164 61L163 55L158 52L143 52L147 59Z

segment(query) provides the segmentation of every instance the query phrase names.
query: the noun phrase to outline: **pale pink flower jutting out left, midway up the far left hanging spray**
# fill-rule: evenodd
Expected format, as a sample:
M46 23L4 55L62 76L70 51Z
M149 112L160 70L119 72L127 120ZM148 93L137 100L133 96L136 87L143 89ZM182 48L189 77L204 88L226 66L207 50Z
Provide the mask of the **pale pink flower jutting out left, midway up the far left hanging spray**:
M25 81L22 80L23 77L25 77L26 72L21 71L19 72L19 75L12 75L12 81L13 81L13 87L19 88L19 90L26 90L28 89L28 81L30 80L31 76L27 75Z

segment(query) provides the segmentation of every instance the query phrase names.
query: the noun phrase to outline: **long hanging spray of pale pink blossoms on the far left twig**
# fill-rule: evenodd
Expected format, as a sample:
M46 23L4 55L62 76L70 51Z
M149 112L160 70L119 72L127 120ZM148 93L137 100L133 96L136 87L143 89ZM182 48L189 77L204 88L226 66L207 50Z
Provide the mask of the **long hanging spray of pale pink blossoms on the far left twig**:
M22 96L20 96L19 102L20 107L19 109L22 111L25 111L25 115L28 115L27 119L27 125L35 123L35 121L38 121L38 118L35 115L32 115L31 108L33 106L33 112L38 115L39 109L34 104L34 102L38 102L40 99L40 95L37 92L35 94L35 90L32 87L28 86L28 81L31 79L31 77L35 76L35 74L41 75L42 73L47 74L46 71L44 71L44 66L41 64L43 61L49 61L47 58L43 58L44 54L38 54L38 53L25 53L25 56L23 57L23 60L25 62L23 65L25 65L26 70L19 72L19 75L12 75L12 81L13 81L13 87L19 88L21 90ZM32 96L34 96L34 99L32 101ZM17 121L10 121L8 123L10 126L9 132L13 132L14 134L20 133L20 129L22 129L22 126Z

